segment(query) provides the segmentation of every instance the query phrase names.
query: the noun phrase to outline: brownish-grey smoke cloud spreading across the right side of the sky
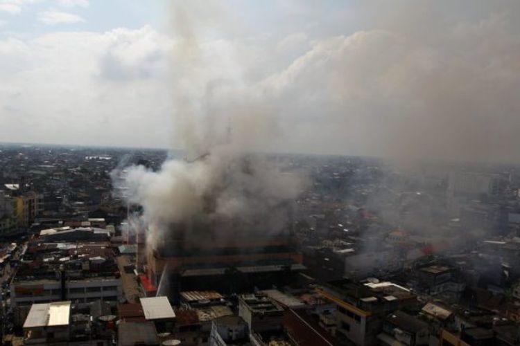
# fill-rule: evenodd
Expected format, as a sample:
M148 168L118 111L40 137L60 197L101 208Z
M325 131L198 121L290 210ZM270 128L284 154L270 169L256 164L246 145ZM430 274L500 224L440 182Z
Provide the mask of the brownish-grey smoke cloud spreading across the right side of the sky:
M295 149L400 160L520 159L518 1L349 7L362 30L309 39L310 48L263 81L295 124ZM303 147L308 134L315 141Z

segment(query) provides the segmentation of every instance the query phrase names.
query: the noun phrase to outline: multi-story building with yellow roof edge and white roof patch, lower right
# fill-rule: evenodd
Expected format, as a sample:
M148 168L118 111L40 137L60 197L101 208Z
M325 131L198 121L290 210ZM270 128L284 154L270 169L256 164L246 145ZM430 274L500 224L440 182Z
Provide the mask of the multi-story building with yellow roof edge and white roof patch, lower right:
M336 304L336 337L356 345L376 345L383 320L392 311L415 307L417 297L392 282L338 280L318 288Z

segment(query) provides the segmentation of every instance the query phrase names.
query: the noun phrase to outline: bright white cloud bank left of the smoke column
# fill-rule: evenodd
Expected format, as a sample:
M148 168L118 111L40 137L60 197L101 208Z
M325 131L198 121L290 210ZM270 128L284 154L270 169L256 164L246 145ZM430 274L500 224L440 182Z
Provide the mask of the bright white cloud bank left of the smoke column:
M0 41L0 137L42 143L164 145L171 114L164 73L114 80L101 69L103 58L124 46L128 57L113 55L115 68L125 65L124 71L148 73L150 56L158 56L160 62L153 69L165 71L167 58L154 51L170 45L150 27ZM160 64L164 67L159 69Z

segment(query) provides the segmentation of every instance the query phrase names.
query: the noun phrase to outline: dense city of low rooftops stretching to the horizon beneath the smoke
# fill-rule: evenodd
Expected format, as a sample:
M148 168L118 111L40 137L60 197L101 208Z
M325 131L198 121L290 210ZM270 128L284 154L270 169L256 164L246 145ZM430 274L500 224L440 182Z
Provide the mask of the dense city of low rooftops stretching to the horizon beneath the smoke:
M4 344L518 345L519 167L272 154L306 177L277 233L196 221L153 248L122 176L172 157L0 148Z

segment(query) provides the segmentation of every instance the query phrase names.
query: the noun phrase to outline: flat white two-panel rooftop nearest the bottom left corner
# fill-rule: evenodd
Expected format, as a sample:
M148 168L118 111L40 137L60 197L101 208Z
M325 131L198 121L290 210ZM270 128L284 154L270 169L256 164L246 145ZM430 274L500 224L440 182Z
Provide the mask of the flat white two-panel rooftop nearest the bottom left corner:
M24 328L69 325L70 312L70 301L33 304L25 320Z

